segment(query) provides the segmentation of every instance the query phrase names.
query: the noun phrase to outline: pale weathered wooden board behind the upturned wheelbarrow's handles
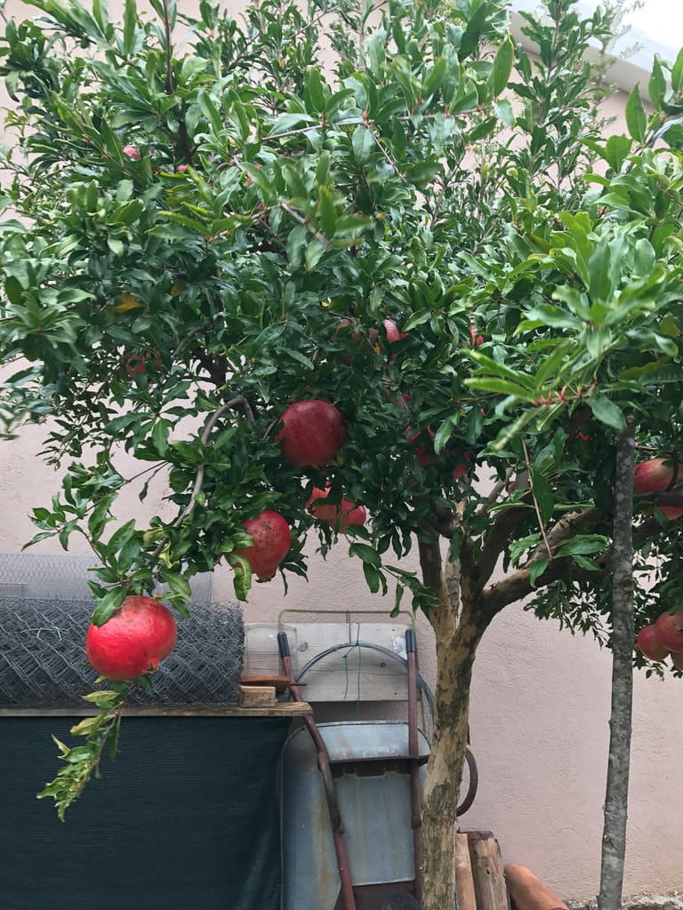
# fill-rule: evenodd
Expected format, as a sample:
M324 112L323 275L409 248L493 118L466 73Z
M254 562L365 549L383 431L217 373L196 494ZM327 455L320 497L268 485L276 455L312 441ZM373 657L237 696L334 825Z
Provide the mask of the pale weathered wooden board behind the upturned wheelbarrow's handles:
M301 679L307 702L404 702L405 669L382 652L354 642L382 645L405 657L405 625L390 622L248 623L245 628L244 676L281 672L278 632L287 632L294 673L331 645L348 647L317 662Z

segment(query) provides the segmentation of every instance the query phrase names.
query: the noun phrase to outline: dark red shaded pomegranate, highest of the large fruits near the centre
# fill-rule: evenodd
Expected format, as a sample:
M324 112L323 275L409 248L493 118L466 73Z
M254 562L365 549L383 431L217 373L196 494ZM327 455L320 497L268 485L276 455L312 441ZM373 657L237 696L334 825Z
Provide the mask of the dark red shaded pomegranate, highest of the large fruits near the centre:
M276 436L285 459L299 468L321 468L328 464L346 439L340 412L329 401L295 401L280 418Z

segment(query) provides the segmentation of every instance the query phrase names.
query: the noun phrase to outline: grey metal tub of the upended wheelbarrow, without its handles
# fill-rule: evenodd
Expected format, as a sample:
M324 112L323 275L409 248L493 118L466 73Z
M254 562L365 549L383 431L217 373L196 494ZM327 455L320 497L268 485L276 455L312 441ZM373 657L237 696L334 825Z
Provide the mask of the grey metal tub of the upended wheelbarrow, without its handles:
M318 729L330 753L354 889L359 895L370 885L411 890L410 769L426 762L429 743L419 733L419 757L411 759L404 722L321 723ZM316 749L305 728L285 743L281 770L282 910L334 910L341 882Z

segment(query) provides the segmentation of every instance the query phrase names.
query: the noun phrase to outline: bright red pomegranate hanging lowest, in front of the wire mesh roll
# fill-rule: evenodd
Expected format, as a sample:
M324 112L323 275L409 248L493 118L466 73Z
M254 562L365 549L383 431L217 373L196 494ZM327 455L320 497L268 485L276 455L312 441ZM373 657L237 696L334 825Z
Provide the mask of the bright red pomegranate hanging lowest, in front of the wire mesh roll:
M163 603L151 597L127 597L104 623L86 634L88 661L100 676L132 680L156 670L176 644L176 621Z

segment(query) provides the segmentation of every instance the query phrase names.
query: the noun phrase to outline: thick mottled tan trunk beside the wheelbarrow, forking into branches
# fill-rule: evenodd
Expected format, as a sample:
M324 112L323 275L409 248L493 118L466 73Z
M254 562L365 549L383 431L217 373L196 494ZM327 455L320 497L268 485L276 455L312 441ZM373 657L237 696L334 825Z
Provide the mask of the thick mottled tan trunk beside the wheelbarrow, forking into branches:
M455 592L433 611L431 621L436 635L436 692L423 794L423 910L455 910L456 807L467 745L472 665L484 629L459 611Z

